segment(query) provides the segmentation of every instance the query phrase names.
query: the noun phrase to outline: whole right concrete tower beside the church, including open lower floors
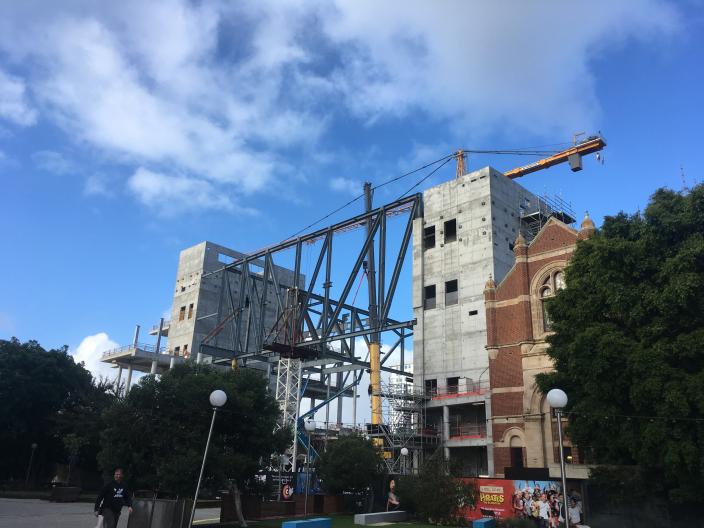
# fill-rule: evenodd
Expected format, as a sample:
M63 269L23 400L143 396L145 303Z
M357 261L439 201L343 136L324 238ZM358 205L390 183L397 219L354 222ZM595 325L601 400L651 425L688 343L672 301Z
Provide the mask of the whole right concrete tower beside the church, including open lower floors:
M484 286L514 265L514 242L551 215L572 220L485 167L426 190L413 230L414 382L445 456L465 475L494 475L494 414Z

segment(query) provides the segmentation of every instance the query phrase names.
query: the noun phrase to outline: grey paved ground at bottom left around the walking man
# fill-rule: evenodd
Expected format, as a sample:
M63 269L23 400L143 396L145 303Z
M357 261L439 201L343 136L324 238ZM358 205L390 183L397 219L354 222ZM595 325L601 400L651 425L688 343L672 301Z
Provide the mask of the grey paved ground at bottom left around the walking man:
M118 528L127 528L127 509L122 510ZM220 510L196 510L199 519L216 519ZM94 528L93 505L88 502L57 503L39 499L0 499L0 528Z

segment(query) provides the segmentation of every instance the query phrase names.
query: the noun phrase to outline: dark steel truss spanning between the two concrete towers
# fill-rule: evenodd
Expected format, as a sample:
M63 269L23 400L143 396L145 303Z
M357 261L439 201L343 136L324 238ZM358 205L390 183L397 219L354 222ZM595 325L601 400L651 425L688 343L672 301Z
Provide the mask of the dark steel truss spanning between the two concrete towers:
M392 332L396 335L393 349L404 350L405 339L412 335L414 321L396 321L389 317L389 312L398 285L403 261L411 241L413 220L421 214L421 195L416 194L384 205L367 213L320 229L308 235L287 240L275 246L265 248L224 266L221 270L208 274L222 274L223 285L220 288L220 306L217 314L219 332L227 329L230 336L226 346L218 345L218 336L208 336L201 344L201 353L220 360L237 359L246 361L250 358L265 359L280 355L278 350L267 350L267 346L284 345L290 350L289 355L304 357L314 354L315 359L329 359L329 363L342 362L369 368L369 363L354 354L354 338L373 333ZM395 255L393 272L387 281L387 217L407 213L408 220L402 235L401 245ZM332 286L332 252L335 236L351 228L371 223L371 229L364 238L357 253L355 263L350 270L339 299L330 296ZM376 258L376 284L378 314L372 317L368 309L354 306L349 301L355 279L363 269L367 253L378 240ZM304 244L322 240L323 244L316 258L316 265L310 278L301 274ZM348 244L346 244L347 247ZM293 281L295 284L283 284L283 269L275 264L277 254L293 249L295 251ZM224 273L223 273L224 272ZM234 279L233 279L234 277ZM291 290L296 290L295 294ZM274 330L274 325L266 324L266 309L274 303L276 321L285 320L288 330L284 340L276 341L281 336ZM372 326L372 321L377 323ZM267 340L269 340L267 342ZM282 342L283 341L283 342ZM340 351L334 351L329 344L340 341ZM383 366L390 354L382 358L382 370L404 373L397 369ZM310 357L306 357L310 359ZM217 360L216 360L217 361Z

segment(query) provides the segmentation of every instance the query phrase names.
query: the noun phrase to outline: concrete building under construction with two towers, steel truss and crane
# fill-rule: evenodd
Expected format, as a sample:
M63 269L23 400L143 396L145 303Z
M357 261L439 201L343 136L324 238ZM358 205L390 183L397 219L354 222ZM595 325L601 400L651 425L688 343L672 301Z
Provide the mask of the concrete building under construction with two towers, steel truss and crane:
M485 285L487 280L500 284L515 267L518 242L530 244L551 222L568 229L575 222L564 202L539 197L513 178L568 159L579 170L580 156L603 146L601 138L590 138L507 173L491 167L464 173L458 164L453 180L422 195L373 209L369 192L364 213L249 255L210 242L185 249L171 320L150 332L156 346L141 344L136 332L131 346L107 352L103 361L119 368L118 378L127 368L128 380L133 369L161 373L188 358L261 370L279 400L283 425L294 429L293 471L299 445L306 454L312 449L302 420L324 408L326 444L335 430L344 429L342 404L349 398L353 423L348 425L355 427L358 385L371 373L372 423L362 430L383 451L390 473L417 469L424 454L441 447L466 476L504 474L506 453L517 451L506 451L506 439L494 438L499 429L492 426L493 405L502 400L498 395L519 386L490 384L496 381L492 366L500 363L492 363L487 348ZM405 219L393 251L386 246L387 218ZM349 238L337 242L338 237L360 228L366 235L358 246L346 248L352 258L335 264L333 246L350 244ZM288 257L279 256L286 252ZM390 307L406 260L412 262L412 317L407 306L408 318L394 320ZM339 277L333 286L335 266ZM369 305L359 306L352 290L357 284L358 291L364 278ZM380 341L374 340L382 334L389 348L380 357ZM161 346L162 338L168 346ZM360 353L355 347L362 339L366 347ZM412 369L404 360L410 339ZM385 364L394 350L400 351L400 367ZM391 375L388 382L378 381L380 372ZM303 398L309 399L307 411ZM331 420L332 402L337 416ZM511 442L508 447L515 447Z

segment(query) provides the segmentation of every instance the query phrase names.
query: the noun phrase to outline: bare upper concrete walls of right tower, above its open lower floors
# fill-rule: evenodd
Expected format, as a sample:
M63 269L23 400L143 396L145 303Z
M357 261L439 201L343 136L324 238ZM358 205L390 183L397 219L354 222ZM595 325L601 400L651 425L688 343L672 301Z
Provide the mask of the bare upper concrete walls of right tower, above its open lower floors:
M487 379L484 285L500 281L513 265L521 204L537 197L491 167L437 185L423 193L423 218L413 234L413 308L416 383L448 377ZM454 240L447 240L454 220ZM435 228L435 246L424 248L424 230ZM457 294L451 290L457 281ZM435 306L424 307L427 287Z

